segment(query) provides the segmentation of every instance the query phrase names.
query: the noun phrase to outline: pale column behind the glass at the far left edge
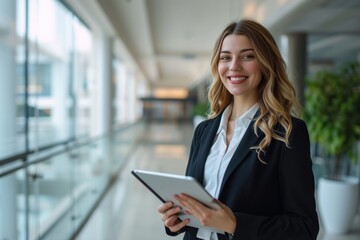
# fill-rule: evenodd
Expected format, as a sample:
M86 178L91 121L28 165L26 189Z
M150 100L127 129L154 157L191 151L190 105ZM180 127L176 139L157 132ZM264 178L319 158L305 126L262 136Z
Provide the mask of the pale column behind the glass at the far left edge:
M16 1L0 1L0 152L16 150ZM0 178L0 239L17 239L17 181L15 175Z

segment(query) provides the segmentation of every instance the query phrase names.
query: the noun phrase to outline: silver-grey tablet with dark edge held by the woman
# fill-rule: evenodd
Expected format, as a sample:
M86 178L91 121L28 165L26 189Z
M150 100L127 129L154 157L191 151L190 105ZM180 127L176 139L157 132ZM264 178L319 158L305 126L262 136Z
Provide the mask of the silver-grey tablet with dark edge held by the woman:
M179 206L180 204L174 195L185 193L210 208L220 208L213 197L193 177L138 169L131 171L131 173L163 203L171 201ZM179 214L179 218L182 220L190 219L188 226L224 233L224 231L215 228L202 226L195 217L186 214L184 211Z

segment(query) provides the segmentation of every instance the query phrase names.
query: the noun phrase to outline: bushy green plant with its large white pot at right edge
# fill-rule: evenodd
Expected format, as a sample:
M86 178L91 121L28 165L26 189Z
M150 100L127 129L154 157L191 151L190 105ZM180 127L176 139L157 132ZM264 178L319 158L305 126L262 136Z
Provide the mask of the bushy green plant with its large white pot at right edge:
M317 188L320 217L325 231L346 233L359 206L359 179L348 176L343 166L349 159L352 164L358 160L360 64L351 62L333 72L317 72L306 83L304 119L327 166Z

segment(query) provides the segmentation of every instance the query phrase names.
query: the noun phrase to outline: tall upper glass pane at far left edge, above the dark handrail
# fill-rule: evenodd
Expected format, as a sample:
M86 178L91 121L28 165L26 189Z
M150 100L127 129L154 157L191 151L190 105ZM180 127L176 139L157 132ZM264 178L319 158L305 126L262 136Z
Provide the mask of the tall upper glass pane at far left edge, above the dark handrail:
M0 1L0 158L25 150L24 16L23 0Z

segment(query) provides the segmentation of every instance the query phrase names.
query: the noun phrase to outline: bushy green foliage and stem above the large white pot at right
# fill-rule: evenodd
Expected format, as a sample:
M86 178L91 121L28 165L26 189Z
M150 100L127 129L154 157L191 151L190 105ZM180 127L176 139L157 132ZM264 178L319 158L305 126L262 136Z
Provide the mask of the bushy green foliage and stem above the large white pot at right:
M343 64L336 71L319 71L307 78L304 119L312 141L334 157L333 178L339 178L341 156L356 159L360 138L360 64Z

